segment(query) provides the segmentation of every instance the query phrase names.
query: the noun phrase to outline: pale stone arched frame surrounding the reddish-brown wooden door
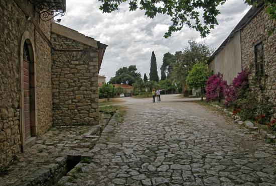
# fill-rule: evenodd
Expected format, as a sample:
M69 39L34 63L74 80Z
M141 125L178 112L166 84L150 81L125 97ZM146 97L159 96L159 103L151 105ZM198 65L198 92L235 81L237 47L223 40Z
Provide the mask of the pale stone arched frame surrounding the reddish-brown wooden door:
M32 136L26 141L25 137L25 115L24 115L24 69L23 69L23 49L24 43L28 44L29 55L30 55L30 97L32 97L32 107L30 110L31 114L31 134ZM30 32L25 31L22 34L21 44L20 44L20 81L21 81L21 96L20 96L20 134L21 134L21 149L25 151L27 148L32 146L37 140L37 82L36 82L36 52L34 47L34 38L31 36ZM32 64L31 64L32 63ZM31 85L32 78L32 85ZM31 94L32 92L32 94Z

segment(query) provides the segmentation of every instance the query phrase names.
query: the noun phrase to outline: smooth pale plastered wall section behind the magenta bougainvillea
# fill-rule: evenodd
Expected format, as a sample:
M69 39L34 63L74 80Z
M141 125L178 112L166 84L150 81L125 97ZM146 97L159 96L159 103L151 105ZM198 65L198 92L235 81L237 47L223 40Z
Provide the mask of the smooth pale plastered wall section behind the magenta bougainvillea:
M229 43L220 50L209 63L210 72L220 72L228 84L241 71L240 33L236 32Z

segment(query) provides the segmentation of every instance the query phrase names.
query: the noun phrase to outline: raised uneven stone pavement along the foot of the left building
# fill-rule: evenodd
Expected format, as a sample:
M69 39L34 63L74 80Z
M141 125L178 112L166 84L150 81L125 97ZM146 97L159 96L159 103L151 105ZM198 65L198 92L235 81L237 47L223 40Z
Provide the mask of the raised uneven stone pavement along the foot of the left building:
M68 158L93 156L89 151L109 119L110 115L102 115L97 126L51 128L7 167L8 171L0 175L0 185L55 184L66 174Z

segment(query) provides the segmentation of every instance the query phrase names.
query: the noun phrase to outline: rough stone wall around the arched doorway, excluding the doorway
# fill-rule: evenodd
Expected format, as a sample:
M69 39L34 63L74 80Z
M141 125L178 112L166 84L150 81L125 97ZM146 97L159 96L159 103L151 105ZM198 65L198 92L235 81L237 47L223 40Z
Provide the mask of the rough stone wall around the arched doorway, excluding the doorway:
M41 23L28 1L0 1L0 167L20 152L21 65L20 48L23 34L28 32L36 50L37 73L37 134L51 125L51 63L50 47L35 29L34 24L49 37L50 23ZM24 13L24 12L25 13ZM32 16L28 21L28 16Z

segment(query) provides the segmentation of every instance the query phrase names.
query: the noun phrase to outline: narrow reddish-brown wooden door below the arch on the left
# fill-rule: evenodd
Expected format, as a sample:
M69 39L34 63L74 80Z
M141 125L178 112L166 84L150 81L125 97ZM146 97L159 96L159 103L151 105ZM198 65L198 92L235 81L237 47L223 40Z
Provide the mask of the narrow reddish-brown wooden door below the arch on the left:
M27 140L32 136L31 134L31 113L30 113L30 61L23 60L24 62L24 124L25 124L25 139Z

